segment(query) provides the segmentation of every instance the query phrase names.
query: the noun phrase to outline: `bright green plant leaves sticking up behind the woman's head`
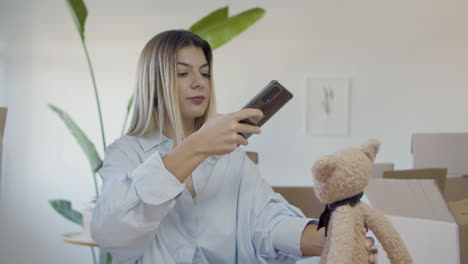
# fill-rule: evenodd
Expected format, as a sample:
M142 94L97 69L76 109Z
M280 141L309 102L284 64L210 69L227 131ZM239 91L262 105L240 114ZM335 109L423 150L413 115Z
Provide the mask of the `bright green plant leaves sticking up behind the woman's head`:
M227 13L227 7L210 13L190 27L193 33L208 41L213 50L242 33L265 14L262 8L252 8L232 17L224 16L224 12Z

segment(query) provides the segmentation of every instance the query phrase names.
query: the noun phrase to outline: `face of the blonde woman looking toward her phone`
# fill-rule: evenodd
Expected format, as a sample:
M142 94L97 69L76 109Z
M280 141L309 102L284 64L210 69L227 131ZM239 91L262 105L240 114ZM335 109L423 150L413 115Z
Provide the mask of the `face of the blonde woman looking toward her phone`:
M189 46L176 53L176 86L183 122L203 116L210 100L210 67L203 50Z

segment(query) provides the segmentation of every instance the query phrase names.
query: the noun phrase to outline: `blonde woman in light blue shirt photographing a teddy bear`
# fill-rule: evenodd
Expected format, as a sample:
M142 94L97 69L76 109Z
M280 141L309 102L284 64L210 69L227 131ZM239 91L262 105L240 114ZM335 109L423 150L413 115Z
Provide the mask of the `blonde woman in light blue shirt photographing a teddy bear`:
M260 133L239 121L263 114L214 114L212 70L209 44L189 31L163 32L143 49L130 129L107 148L91 226L114 263L320 255L316 220L274 193L238 148L247 144L239 133Z

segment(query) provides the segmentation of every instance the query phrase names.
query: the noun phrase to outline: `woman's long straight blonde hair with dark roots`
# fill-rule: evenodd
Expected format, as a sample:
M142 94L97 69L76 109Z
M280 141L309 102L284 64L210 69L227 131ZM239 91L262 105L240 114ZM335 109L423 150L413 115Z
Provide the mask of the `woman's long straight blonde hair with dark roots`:
M165 124L170 122L176 133L175 143L185 135L179 108L179 93L176 88L176 53L184 47L195 46L203 50L213 72L211 47L202 38L187 30L169 30L153 37L141 52L137 83L134 91L133 114L127 135L147 136L159 130L165 134ZM196 118L198 130L215 113L213 81L210 78L210 100L203 116Z

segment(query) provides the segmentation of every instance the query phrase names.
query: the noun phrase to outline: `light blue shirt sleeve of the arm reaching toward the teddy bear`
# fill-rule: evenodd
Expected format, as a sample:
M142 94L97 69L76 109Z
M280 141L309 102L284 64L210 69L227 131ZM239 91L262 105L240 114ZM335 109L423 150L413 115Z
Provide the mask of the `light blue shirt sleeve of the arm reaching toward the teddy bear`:
M241 193L251 193L251 240L262 263L295 263L303 259L302 232L317 220L306 218L261 177L257 166L244 158Z

